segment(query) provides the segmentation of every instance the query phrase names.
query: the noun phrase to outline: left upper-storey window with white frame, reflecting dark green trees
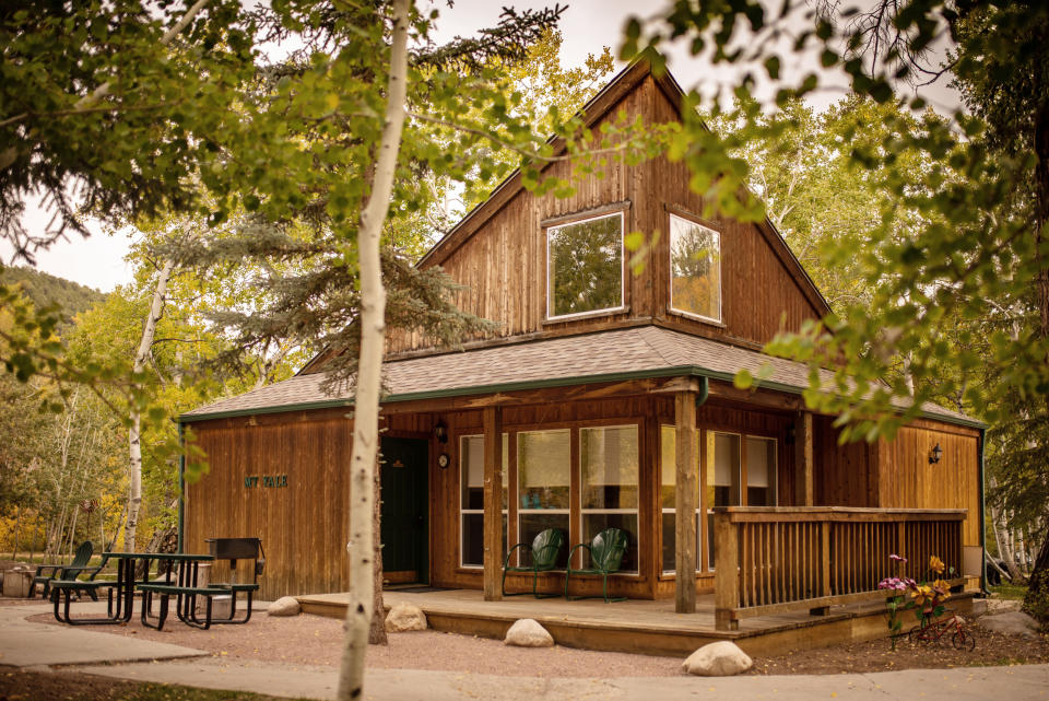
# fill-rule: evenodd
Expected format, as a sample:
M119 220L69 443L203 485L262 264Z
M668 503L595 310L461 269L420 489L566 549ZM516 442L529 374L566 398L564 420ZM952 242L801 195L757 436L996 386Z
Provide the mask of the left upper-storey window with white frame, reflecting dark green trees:
M546 318L621 309L623 214L546 230Z

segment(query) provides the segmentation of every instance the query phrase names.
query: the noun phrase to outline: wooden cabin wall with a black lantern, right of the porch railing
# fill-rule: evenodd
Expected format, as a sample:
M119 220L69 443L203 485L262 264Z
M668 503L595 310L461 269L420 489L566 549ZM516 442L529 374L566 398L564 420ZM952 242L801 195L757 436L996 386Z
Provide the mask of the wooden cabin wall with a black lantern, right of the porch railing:
M981 546L979 440L975 429L916 421L901 428L895 441L881 441L879 505L965 509L963 545ZM930 464L929 454L938 443L943 455Z

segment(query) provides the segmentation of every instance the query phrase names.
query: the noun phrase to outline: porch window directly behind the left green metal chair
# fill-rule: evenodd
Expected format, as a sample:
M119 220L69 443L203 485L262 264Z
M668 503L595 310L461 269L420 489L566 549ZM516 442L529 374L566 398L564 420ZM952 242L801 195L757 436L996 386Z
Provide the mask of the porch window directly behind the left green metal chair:
M517 482L518 541L531 542L546 528L561 529L567 541L571 514L570 431L564 429L518 433ZM566 566L567 549L559 558L557 566ZM527 553L522 554L520 560L520 566L531 564Z

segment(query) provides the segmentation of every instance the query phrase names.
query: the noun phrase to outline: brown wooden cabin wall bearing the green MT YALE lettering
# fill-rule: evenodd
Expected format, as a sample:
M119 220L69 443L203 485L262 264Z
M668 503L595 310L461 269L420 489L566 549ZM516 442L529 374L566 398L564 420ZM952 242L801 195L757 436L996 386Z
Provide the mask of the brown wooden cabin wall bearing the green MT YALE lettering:
M186 484L184 550L208 552L205 538L257 537L266 552L262 600L345 591L353 444L346 413L334 409L192 423L210 469ZM397 416L387 425L392 434L428 434L428 421ZM286 487L269 487L263 476L286 477ZM246 486L248 477L259 477L255 487ZM215 562L212 581L227 575L228 564ZM245 576L241 565L239 581Z

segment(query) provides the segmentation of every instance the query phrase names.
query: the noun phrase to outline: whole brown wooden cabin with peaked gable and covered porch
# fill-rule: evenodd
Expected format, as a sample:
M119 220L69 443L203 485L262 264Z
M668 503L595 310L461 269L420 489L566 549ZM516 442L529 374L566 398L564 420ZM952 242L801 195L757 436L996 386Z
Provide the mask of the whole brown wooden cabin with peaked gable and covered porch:
M638 62L585 114L599 128L621 110L658 124L681 109L673 78ZM502 326L453 352L390 342L388 582L495 598L512 544L551 527L588 542L615 526L629 547L612 594L687 611L715 592L724 628L869 597L898 573L891 553L910 558L911 576L936 554L977 585L982 425L928 406L893 442L838 445L834 417L801 398L808 367L762 353L826 301L769 222L703 217L688 180L665 159L612 163L558 199L515 175L419 262L441 266L464 285L460 307ZM633 231L662 232L637 274ZM352 401L321 392L325 358L180 418L210 464L184 491L182 547L261 538L263 598L347 586ZM759 388L733 386L765 365ZM540 586L559 591L564 573ZM600 586L573 579L578 594Z

